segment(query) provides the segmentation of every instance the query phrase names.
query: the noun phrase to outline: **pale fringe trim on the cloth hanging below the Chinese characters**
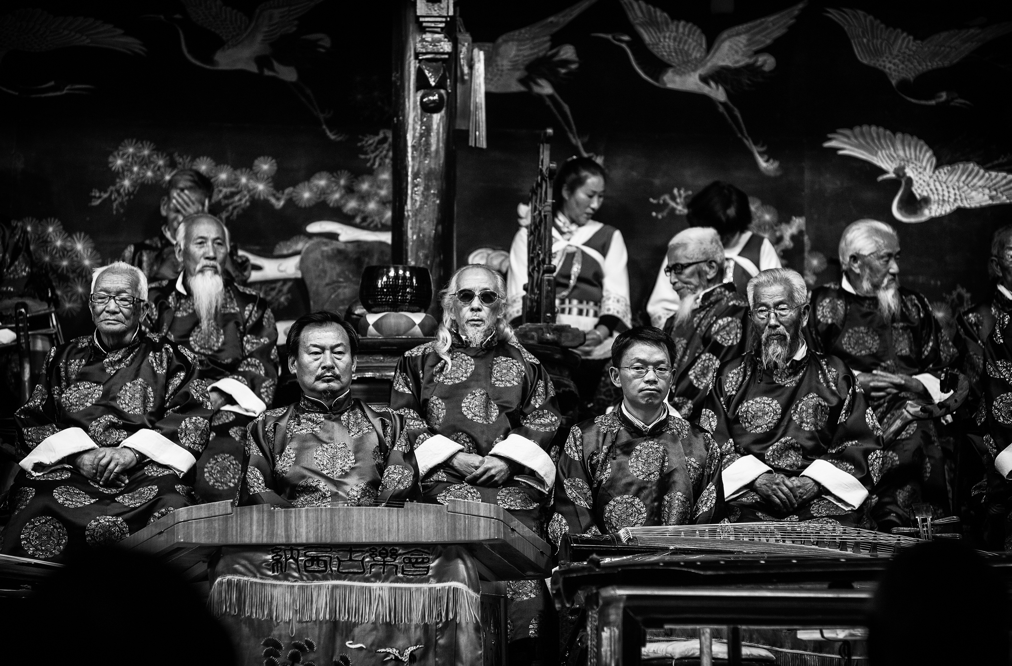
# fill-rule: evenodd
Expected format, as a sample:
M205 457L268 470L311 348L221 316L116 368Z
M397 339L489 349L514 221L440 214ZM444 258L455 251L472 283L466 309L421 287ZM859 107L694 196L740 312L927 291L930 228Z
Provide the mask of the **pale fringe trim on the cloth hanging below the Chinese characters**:
M481 595L455 582L297 583L223 576L215 581L207 606L216 617L435 625L479 621Z

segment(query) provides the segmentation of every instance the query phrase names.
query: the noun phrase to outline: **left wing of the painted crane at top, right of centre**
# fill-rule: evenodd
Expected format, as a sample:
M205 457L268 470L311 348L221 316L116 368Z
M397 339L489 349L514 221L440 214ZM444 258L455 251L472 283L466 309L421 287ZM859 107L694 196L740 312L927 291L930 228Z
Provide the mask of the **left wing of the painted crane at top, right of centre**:
M696 71L706 57L706 35L694 23L672 20L643 0L621 0L622 8L643 43L678 74Z

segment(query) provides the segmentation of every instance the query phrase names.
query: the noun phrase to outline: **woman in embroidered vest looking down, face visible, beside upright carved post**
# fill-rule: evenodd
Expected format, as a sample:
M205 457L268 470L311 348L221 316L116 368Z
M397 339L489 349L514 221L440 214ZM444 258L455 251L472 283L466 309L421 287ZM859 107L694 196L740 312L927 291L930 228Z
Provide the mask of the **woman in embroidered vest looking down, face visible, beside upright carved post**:
M628 257L622 233L592 220L604 202L606 181L600 164L574 157L563 164L553 185L556 321L587 332L586 344L577 349L583 362L573 378L585 403L597 390L615 335L629 328L630 319ZM510 248L506 289L510 320L523 310L527 224L520 222Z

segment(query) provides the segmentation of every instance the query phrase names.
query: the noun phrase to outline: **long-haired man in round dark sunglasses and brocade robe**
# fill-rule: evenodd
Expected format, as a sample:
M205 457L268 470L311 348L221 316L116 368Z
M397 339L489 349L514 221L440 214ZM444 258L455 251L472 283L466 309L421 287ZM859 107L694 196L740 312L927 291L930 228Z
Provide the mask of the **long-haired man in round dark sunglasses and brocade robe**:
M405 353L391 407L409 427L428 428L415 448L422 501L498 504L541 533L556 481L559 450L550 447L559 407L544 366L513 334L505 299L506 280L488 266L453 273L440 293L436 340ZM555 648L542 633L546 588L516 581L508 593L511 661L546 659Z

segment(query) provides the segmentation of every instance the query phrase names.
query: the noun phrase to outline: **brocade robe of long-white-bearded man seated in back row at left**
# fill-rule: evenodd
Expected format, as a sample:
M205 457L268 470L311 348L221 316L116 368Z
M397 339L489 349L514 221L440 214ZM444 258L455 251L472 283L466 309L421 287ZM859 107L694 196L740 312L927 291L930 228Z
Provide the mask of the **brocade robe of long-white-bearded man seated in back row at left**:
M197 357L197 378L228 394L212 420L212 439L197 461L195 490L201 502L236 497L246 427L270 406L277 388L277 328L274 315L253 289L225 280L218 321L200 324L183 275L152 285L154 312L148 326Z

